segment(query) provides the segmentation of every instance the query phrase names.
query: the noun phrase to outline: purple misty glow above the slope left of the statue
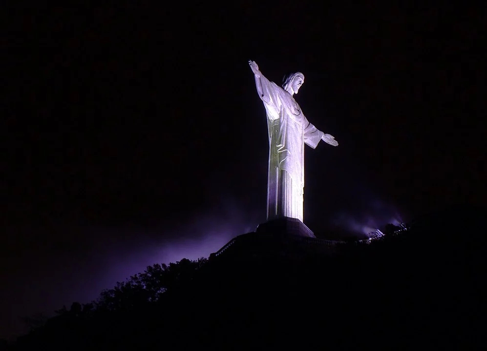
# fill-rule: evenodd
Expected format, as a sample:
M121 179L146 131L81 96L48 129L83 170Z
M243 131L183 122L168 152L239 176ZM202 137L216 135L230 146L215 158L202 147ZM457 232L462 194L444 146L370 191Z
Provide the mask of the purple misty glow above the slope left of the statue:
M44 252L32 250L29 262L18 257L16 285L13 293L0 290L0 307L11 315L11 330L0 331L0 337L26 332L22 316L55 310L74 301L88 303L104 289L118 281L143 272L154 263L170 263L182 258L209 257L236 235L254 231L260 218L243 216L236 206L227 204L220 216L201 215L191 223L172 228L126 229L85 227L65 229L66 235L78 240L77 248L60 251L62 242L49 243ZM60 239L62 240L62 239ZM62 262L62 264L61 264ZM14 273L12 273L14 274ZM25 288L30 287L30 288ZM42 306L40 308L40 306ZM5 334L1 334L5 332Z

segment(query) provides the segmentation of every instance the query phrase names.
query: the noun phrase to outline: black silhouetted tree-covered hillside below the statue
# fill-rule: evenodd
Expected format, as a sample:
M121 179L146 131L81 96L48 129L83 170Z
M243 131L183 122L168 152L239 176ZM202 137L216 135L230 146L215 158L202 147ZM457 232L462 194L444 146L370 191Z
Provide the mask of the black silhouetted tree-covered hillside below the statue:
M452 208L330 254L289 244L154 264L0 350L478 346L485 215Z

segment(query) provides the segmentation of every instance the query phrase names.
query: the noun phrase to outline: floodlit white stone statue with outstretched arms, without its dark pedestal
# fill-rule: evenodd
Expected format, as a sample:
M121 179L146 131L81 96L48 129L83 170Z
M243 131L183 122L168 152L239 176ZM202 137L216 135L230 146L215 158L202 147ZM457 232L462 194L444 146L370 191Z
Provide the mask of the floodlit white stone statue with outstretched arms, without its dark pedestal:
M304 117L293 98L304 83L304 75L289 75L282 88L249 61L257 93L264 102L269 129L269 174L267 182L267 220L281 217L303 221L304 144L316 148L320 140L337 146L335 137L324 134Z

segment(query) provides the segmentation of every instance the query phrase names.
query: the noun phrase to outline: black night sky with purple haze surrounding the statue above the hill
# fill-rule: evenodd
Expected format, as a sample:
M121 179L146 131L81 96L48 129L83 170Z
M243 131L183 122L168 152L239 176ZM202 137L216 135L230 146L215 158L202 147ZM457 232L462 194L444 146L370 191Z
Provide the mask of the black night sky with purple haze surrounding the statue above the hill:
M21 315L207 257L265 221L267 124L249 59L276 83L303 72L296 100L340 143L306 149L304 218L317 234L481 203L482 10L7 9L0 337Z

